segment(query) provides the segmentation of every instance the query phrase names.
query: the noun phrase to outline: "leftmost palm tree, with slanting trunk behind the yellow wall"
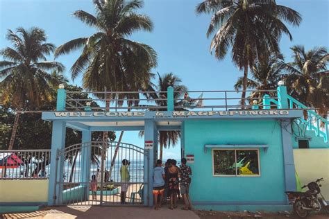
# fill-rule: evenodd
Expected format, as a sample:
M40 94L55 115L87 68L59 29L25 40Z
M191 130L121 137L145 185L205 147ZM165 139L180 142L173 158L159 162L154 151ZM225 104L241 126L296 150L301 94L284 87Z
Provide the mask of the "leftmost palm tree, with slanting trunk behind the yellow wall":
M13 48L0 51L5 60L0 61L0 89L3 91L3 104L16 109L40 108L44 101L52 99L50 83L56 83L48 71L64 71L60 62L47 61L55 46L47 43L47 35L40 28L17 28L16 33L8 30L6 35ZM8 150L12 150L19 121L15 114L12 137Z

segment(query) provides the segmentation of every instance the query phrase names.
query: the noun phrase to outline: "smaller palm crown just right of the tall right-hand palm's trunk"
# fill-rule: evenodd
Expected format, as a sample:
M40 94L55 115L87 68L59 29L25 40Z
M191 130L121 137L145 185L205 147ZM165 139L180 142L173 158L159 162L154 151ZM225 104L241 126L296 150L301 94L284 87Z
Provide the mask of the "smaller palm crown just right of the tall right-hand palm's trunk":
M265 55L264 57L256 60L253 67L251 67L251 78L248 78L247 88L255 90L273 90L278 87L278 82L282 80L282 71L284 67L282 65L282 55ZM243 87L244 78L239 77L234 85L235 90L239 90ZM249 102L260 99L264 94L275 96L273 92L266 91L253 91L251 92Z

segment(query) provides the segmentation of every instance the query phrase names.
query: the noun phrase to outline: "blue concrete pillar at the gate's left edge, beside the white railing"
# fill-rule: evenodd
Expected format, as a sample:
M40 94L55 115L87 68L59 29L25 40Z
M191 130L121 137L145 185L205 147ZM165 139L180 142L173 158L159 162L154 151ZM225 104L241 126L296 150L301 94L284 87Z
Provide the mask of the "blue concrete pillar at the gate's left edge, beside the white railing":
M58 157L57 153L58 150L62 150L65 148L65 134L65 122L53 121L53 133L51 136L51 165L49 175L48 205L59 203L62 200L62 182L64 182L64 155L62 154ZM56 182L60 183L56 184Z

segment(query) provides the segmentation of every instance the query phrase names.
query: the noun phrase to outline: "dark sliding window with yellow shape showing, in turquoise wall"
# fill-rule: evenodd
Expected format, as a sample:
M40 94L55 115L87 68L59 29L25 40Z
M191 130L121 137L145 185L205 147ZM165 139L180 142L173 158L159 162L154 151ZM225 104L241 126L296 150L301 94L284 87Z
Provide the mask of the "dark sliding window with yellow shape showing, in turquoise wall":
M213 149L213 175L259 176L258 149Z

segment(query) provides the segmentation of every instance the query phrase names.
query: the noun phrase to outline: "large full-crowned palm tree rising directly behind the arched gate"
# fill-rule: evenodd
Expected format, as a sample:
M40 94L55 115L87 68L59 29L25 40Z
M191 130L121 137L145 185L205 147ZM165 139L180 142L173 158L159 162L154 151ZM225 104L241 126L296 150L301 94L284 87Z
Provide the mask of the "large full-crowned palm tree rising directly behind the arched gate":
M71 78L83 73L83 87L90 91L140 91L151 83L150 70L157 64L155 51L146 44L130 40L137 30L151 31L152 21L146 15L135 10L142 8L142 1L124 0L93 0L95 15L83 10L73 13L88 26L96 28L97 32L90 37L71 40L58 47L55 56L67 54L76 49L82 49L79 58L71 67ZM97 95L96 95L97 96ZM103 94L98 95L104 98ZM110 107L110 99L118 98L123 104L125 98L128 107L138 102L138 94L119 94L106 96L106 110ZM119 143L124 132L121 132L115 154L112 158L110 173L114 165ZM103 143L106 146L108 132L103 133ZM105 162L105 159L102 159ZM104 166L104 165L102 165Z

